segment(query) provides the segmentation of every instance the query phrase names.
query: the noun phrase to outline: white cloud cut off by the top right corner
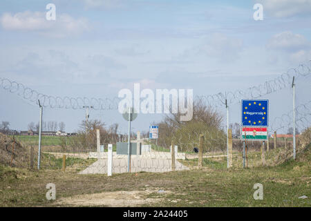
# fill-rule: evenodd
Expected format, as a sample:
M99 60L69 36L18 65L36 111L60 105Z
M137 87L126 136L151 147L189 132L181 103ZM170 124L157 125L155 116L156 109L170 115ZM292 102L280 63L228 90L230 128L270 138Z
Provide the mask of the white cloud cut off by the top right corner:
M273 17L292 17L311 13L311 0L256 0L263 4L263 11Z

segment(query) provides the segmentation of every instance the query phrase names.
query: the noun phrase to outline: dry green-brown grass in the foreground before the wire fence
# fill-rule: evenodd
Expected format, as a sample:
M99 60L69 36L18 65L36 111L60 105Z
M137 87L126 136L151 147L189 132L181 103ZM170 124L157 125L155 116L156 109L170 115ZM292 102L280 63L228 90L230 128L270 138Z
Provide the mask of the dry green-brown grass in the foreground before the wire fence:
M59 169L53 170L28 171L0 166L0 206L57 206L59 199L76 195L147 189L156 190L144 196L155 201L140 206L311 206L310 152L309 146L295 161L274 167L226 169L225 158L205 159L202 169L123 173L112 177L78 175L75 165L91 162L77 159L68 160L66 172L60 170L60 160ZM197 161L183 163L195 167ZM57 189L57 200L53 202L46 200L46 184L50 182ZM263 200L253 199L256 183L263 184ZM160 194L158 190L167 194ZM302 195L308 198L299 199Z

